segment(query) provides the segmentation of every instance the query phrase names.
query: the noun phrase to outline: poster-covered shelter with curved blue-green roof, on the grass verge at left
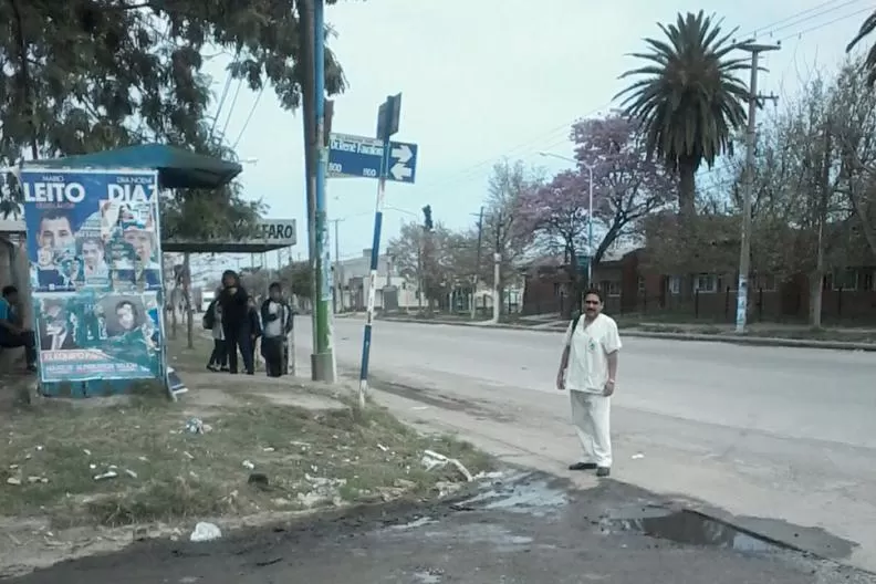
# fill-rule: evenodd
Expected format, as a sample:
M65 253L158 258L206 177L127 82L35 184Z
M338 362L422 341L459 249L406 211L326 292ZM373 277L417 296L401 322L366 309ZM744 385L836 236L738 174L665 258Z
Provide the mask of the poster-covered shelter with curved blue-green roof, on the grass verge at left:
M44 395L112 395L150 380L170 390L159 196L217 189L241 170L160 144L14 170Z

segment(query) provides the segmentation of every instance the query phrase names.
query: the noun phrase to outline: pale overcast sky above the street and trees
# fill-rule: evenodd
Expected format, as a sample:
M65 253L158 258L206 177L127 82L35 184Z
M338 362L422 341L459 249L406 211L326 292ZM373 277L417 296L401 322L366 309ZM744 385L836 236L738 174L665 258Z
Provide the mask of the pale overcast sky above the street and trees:
M436 222L471 226L492 165L503 157L551 173L570 167L540 153L572 156L571 124L617 105L618 75L637 65L628 54L644 49L644 38L659 38L657 23L678 12L713 13L728 32L738 28L739 39L781 41L780 51L762 58L768 71L759 90L788 98L811 71L842 62L873 9L873 0L341 0L327 8L326 22L337 33L330 48L350 86L335 97L333 131L373 136L378 105L403 94L395 139L418 145L417 176L415 185L387 185L385 249L403 221L421 220L424 205ZM217 58L208 66L217 96L228 62ZM232 100L236 88L219 129L230 143L239 139L244 196L262 199L268 217L298 220L292 257L305 258L301 115L283 111L270 88L257 100L243 86ZM371 247L376 189L368 178L327 182L342 260ZM330 236L334 259L334 227ZM268 258L275 262L275 254Z

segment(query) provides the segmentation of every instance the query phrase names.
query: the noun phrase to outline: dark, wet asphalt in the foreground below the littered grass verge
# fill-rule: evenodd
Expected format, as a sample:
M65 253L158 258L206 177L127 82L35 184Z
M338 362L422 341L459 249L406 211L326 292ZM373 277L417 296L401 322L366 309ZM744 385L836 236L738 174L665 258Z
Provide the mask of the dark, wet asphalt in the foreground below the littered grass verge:
M605 481L490 480L455 504L389 505L236 533L158 541L59 564L15 584L855 584L866 575L656 507ZM679 520L680 518L680 520ZM669 539L654 539L659 531ZM696 544L696 545L691 545Z

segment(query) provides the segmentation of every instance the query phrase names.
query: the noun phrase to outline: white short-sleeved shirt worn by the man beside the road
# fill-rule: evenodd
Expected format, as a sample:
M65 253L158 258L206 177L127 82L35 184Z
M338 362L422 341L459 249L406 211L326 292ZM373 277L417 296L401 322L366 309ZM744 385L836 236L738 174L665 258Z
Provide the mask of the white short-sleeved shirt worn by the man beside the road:
M608 382L608 355L623 346L617 323L605 314L588 323L582 315L577 328L572 331L573 322L563 338L563 346L570 347L566 388L602 394Z

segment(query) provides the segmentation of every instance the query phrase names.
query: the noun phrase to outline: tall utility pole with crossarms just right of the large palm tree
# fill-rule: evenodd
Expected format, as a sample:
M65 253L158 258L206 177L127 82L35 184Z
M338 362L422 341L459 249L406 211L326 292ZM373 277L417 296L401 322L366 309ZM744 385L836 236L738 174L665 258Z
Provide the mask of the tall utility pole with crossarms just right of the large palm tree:
M745 185L742 199L742 233L739 246L739 285L737 286L737 327L745 332L748 320L748 280L751 271L751 207L754 197L754 144L758 136L758 105L761 100L776 100L775 96L758 95L758 58L766 51L778 51L779 44L758 44L754 41L739 45L751 53L751 82L749 85L748 133L745 135Z

